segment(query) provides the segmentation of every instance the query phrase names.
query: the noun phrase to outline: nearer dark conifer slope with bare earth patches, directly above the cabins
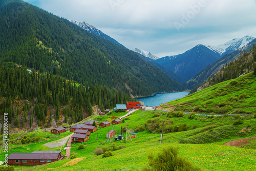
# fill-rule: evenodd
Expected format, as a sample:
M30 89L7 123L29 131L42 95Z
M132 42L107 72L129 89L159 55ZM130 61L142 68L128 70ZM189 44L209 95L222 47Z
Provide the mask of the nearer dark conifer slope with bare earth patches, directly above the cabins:
M77 84L53 74L28 72L13 62L0 62L0 111L8 113L11 127L28 129L62 123L76 123L117 103L133 101L128 93L104 86Z

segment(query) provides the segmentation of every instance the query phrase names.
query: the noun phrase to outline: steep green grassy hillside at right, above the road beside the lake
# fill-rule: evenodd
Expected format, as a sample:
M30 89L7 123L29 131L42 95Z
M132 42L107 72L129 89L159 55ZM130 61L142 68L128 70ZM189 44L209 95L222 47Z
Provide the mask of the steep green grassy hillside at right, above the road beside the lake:
M253 72L224 81L182 99L165 103L166 110L215 114L254 115L256 77ZM168 107L168 108L167 108Z

